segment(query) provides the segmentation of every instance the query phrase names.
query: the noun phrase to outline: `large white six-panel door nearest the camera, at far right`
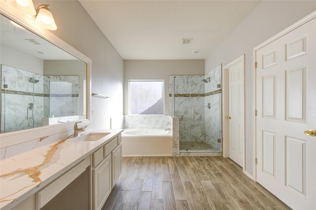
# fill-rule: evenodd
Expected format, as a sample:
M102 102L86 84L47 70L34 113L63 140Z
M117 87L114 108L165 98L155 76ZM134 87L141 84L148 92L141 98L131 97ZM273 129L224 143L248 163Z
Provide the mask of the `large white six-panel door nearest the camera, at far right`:
M316 209L316 20L256 51L257 181L293 209Z

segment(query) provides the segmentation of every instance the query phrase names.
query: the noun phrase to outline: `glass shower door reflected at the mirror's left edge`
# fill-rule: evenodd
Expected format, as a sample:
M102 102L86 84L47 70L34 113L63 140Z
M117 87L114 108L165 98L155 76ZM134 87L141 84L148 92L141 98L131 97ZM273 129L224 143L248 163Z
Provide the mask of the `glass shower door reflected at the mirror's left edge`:
M1 84L1 133L34 128L33 77L5 77Z

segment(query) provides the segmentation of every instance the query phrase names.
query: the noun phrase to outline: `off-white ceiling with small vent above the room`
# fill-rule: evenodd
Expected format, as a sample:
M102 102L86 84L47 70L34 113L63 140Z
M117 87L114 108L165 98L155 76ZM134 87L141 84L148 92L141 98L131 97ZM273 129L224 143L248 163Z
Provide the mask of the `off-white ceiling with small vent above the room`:
M124 60L205 59L260 2L79 1Z

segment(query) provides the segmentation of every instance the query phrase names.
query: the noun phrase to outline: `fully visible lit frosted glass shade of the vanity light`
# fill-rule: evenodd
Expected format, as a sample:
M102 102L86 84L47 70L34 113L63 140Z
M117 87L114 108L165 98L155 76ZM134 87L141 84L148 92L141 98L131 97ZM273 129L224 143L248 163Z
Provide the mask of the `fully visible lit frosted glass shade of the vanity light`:
M41 27L48 30L56 30L57 26L51 11L48 9L48 4L41 4L36 9L35 22Z

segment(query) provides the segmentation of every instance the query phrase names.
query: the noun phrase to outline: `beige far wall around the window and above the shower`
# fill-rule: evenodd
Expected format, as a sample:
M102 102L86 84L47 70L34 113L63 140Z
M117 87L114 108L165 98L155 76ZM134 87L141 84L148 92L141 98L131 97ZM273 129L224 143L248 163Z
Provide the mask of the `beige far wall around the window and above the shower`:
M128 114L129 79L163 79L164 114L169 115L169 75L204 75L204 60L125 60L124 114Z

